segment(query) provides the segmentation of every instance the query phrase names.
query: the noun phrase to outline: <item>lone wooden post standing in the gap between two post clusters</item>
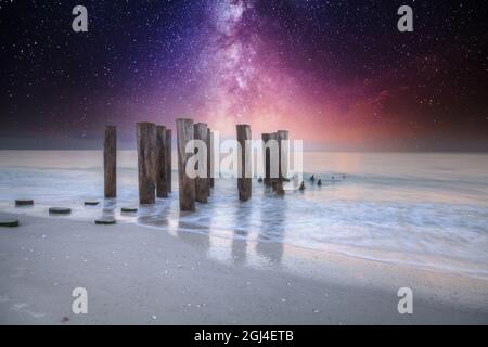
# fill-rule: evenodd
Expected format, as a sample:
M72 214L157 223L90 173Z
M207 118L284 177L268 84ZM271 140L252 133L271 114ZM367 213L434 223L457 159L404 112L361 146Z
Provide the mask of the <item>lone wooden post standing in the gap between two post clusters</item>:
M242 202L248 201L251 198L252 189L252 167L251 167L251 126L248 125L237 125L237 142L241 146L241 155L237 157L237 189L239 189L239 200Z

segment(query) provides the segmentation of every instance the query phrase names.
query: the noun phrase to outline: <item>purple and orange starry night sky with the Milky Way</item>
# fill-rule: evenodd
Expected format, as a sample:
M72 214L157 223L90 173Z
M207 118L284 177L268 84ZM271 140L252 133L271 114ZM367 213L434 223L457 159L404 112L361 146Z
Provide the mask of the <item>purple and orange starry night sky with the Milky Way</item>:
M485 2L0 0L0 149L101 149L106 124L133 147L137 121L187 116L308 150L488 151Z

